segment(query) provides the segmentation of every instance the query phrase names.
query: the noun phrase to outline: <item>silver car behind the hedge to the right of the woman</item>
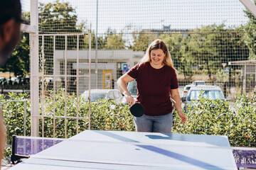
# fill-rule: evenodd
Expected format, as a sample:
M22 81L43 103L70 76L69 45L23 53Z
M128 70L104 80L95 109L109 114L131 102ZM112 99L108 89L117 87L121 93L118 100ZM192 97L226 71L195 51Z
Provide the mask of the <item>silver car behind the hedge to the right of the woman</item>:
M188 96L183 101L185 103L184 110L185 113L188 113L188 104L192 104L192 101L199 101L199 96L201 95L201 91L203 91L203 97L204 98L210 98L210 100L227 100L230 101L230 98L225 98L223 95L223 91L220 89L219 86L191 86L191 89L188 91Z

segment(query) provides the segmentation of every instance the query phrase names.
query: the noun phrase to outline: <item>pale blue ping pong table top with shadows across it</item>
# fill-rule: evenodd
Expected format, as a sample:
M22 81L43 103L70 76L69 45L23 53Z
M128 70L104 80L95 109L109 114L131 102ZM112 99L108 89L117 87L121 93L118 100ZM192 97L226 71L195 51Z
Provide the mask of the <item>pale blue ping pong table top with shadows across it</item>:
M238 168L226 136L85 130L9 169Z

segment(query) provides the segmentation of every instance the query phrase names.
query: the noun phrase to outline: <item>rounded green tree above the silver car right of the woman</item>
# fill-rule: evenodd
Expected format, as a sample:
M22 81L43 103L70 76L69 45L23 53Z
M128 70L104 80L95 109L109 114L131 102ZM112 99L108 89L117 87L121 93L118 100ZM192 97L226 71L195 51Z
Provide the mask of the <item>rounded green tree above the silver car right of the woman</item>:
M249 53L242 28L226 28L224 24L202 26L191 31L188 48L194 66L206 69L210 79L222 68L221 63L246 60Z

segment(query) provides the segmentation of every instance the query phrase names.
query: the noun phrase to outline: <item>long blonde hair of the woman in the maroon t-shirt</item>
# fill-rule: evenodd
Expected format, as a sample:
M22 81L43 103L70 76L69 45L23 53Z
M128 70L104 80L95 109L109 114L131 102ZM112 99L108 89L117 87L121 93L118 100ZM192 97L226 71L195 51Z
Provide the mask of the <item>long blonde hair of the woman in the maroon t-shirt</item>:
M171 55L170 55L168 48L166 47L166 44L164 43L164 41L162 41L160 39L156 39L153 42L151 42L149 47L146 49L146 53L145 53L144 57L142 57L142 59L139 60L139 65L142 63L150 62L151 61L151 59L150 59L151 50L158 50L158 49L163 50L163 52L165 54L163 64L166 64L169 67L172 67L175 70L176 74L178 74L177 70L174 68L174 64L173 64L173 61L171 60Z

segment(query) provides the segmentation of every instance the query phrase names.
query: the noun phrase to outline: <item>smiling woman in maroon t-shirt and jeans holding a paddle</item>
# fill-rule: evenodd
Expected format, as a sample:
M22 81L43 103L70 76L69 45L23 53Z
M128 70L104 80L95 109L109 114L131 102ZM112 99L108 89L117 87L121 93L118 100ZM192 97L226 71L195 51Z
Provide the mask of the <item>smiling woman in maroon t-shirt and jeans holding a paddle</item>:
M126 86L134 79L137 81L138 90L136 101L129 94ZM171 133L173 122L171 98L181 123L186 122L187 118L183 114L181 98L178 94L176 69L163 41L151 42L142 60L122 75L117 85L130 106L138 102L145 108L142 117L134 117L137 132Z

